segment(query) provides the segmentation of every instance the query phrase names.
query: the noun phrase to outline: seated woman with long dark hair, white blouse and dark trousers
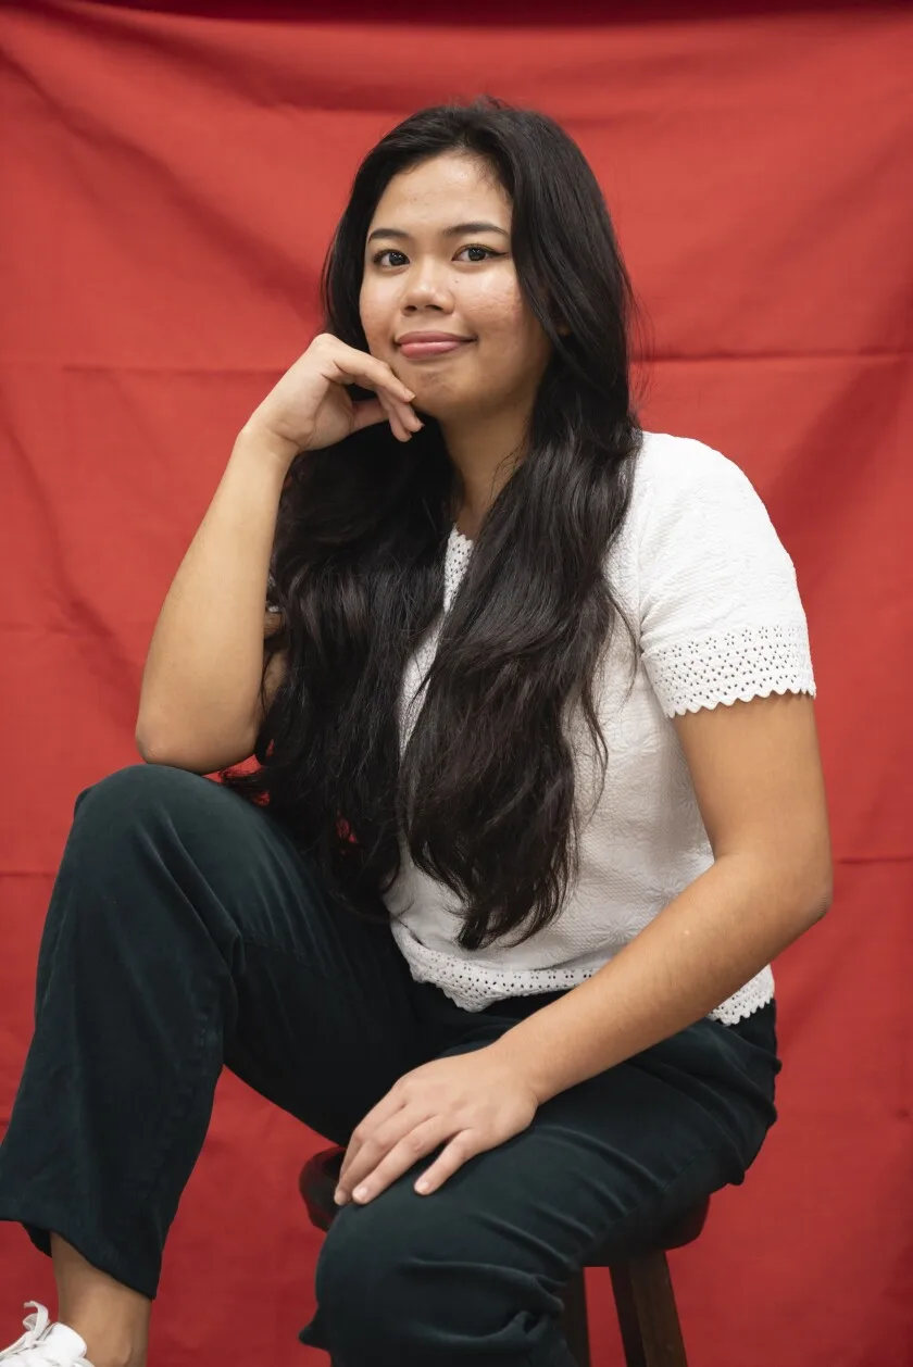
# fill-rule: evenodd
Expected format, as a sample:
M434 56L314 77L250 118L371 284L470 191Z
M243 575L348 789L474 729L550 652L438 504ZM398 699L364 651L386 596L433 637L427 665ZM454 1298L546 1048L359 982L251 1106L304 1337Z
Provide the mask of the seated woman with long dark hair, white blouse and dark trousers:
M592 171L422 111L324 287L164 603L146 766L77 800L0 1151L59 1319L4 1360L145 1362L223 1064L347 1146L301 1334L347 1367L570 1364L569 1277L776 1117L769 961L831 899L805 615L741 470L638 427Z

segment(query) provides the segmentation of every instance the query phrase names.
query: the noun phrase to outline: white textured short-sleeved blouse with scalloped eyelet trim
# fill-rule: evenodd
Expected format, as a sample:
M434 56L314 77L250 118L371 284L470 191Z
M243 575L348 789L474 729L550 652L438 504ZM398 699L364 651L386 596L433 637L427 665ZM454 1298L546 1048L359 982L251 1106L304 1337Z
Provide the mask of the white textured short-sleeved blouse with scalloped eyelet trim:
M626 697L630 641L619 626L597 681L608 767L596 805L592 742L582 723L574 734L580 876L558 917L515 947L465 950L455 943L458 898L414 867L405 843L385 894L413 977L470 1012L581 983L711 867L672 716L769 693L815 696L795 570L744 472L701 442L659 433L645 433L636 459L631 506L605 573L637 632L637 674ZM444 614L472 552L454 529ZM403 746L439 630L440 622L406 668ZM772 995L768 965L711 1016L731 1024Z

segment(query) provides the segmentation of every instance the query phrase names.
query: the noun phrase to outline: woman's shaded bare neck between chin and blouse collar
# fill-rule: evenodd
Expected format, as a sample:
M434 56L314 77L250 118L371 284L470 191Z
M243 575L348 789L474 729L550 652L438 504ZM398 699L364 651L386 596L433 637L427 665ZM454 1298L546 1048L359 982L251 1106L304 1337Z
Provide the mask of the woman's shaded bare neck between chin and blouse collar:
M459 473L455 522L463 536L478 534L485 514L522 461L526 424L517 414L441 422L447 454Z

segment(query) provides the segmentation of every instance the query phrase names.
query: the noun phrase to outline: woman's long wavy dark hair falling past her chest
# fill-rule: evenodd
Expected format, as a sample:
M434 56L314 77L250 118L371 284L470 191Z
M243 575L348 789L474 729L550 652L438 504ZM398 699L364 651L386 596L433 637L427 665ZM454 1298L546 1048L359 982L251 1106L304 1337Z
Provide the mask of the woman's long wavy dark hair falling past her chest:
M458 894L458 942L478 949L545 927L577 874L566 723L585 719L604 782L595 677L618 625L633 636L604 562L642 432L634 295L599 183L552 119L500 100L421 109L368 153L324 262L324 329L368 350L358 298L376 205L398 172L452 152L484 159L507 191L519 286L552 344L526 455L477 534L402 756L402 675L441 614L459 473L425 414L409 443L381 424L295 459L271 567L283 626L268 651L287 667L258 768L221 778L268 802L357 912L384 915L402 841Z

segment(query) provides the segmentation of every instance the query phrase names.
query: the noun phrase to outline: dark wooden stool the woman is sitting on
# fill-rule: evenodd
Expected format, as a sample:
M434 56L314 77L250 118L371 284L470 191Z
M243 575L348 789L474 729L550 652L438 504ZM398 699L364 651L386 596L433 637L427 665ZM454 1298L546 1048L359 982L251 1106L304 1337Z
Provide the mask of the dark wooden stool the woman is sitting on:
M301 1170L298 1189L308 1207L310 1222L317 1229L329 1229L339 1208L333 1203L333 1192L344 1152L344 1148L325 1148L314 1154ZM626 1367L687 1367L666 1254L670 1248L683 1248L697 1239L704 1228L708 1207L709 1200L697 1206L685 1219L668 1229L652 1249L623 1263L611 1263L596 1255L588 1264L608 1267ZM564 1290L562 1326L580 1367L592 1367L582 1271L571 1278Z

